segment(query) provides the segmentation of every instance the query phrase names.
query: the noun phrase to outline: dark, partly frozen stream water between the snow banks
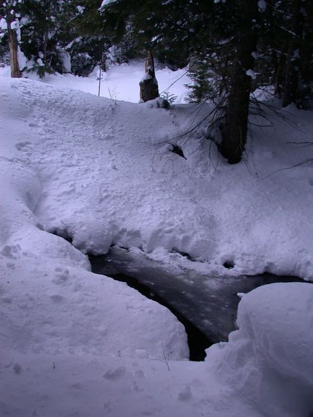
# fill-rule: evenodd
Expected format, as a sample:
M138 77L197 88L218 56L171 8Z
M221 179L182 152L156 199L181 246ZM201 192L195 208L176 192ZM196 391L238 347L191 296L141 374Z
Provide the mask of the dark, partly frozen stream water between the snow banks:
M227 341L236 329L237 293L248 293L274 282L302 281L271 274L242 277L205 275L195 270L167 268L144 252L111 247L108 254L89 256L93 272L124 281L143 295L167 306L186 327L191 360L202 360L204 349Z

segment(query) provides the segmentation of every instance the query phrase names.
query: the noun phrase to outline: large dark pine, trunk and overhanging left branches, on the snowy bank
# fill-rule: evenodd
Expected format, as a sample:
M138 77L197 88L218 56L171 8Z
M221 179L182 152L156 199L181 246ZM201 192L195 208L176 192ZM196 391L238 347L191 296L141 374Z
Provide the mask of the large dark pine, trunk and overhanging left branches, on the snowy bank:
M122 5L125 13L124 0L109 3L105 10L118 14ZM137 33L138 47L149 47L153 51L169 49L172 54L179 51L188 60L194 56L198 60L202 57L202 62L203 56L212 56L209 51L212 45L218 51L215 71L223 85L217 89L214 86L213 90L215 95L223 97L223 114L219 116L223 117L220 152L230 163L237 163L247 136L251 89L251 77L247 72L252 71L254 65L251 54L255 51L257 31L252 20L257 18L257 1L239 0L212 6L212 3L201 0L146 0L136 7L131 3L125 21ZM225 38L231 41L222 48L220 41ZM201 70L195 71L197 81L201 76ZM207 83L206 86L210 90ZM200 90L198 96L199 93Z

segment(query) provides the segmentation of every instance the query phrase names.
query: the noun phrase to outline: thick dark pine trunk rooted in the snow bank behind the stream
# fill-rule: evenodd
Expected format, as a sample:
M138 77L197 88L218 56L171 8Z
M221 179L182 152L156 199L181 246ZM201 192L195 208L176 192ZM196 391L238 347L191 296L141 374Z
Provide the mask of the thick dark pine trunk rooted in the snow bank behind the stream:
M224 3L221 17L227 27L221 35L230 39L231 69L225 85L224 117L220 153L229 163L238 163L246 146L251 81L254 76L253 52L257 46L257 0ZM230 19L232 16L232 19ZM216 32L220 26L216 28Z

